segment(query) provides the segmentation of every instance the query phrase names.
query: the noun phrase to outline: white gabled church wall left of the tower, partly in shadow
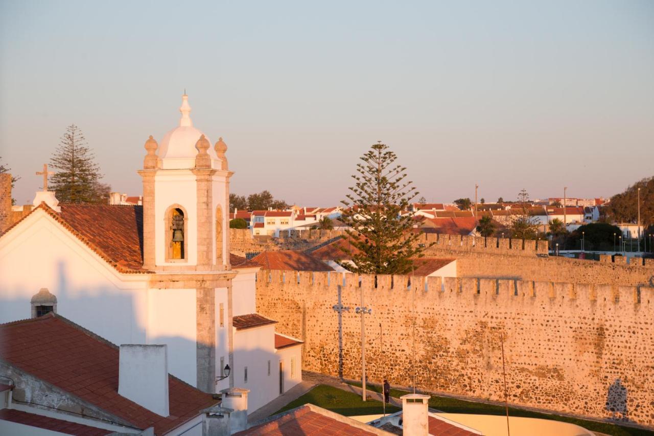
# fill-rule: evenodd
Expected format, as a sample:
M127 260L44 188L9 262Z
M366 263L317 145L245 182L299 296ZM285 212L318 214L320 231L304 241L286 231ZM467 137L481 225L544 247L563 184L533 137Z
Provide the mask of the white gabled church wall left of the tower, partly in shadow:
M145 342L145 274L120 274L37 210L0 239L0 322L31 317L45 287L57 313L114 342Z

